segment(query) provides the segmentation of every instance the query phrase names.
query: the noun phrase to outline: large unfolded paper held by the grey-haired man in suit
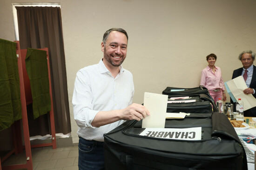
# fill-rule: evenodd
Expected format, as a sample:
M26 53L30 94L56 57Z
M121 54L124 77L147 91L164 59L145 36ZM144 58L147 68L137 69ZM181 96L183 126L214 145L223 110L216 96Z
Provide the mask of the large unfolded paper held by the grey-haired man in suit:
M236 102L240 98L243 101L243 109L248 110L256 107L256 99L252 94L244 94L243 90L248 88L242 76L238 76L228 82L225 82L226 89L232 99Z

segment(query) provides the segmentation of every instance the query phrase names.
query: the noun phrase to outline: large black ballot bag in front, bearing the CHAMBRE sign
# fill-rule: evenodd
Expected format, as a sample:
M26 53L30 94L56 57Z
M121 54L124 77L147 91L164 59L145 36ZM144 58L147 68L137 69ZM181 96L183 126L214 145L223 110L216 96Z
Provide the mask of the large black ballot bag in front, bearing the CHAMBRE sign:
M201 139L142 136L141 121L126 121L104 134L105 169L247 170L243 145L224 114L191 113L184 119L166 119L164 129L191 127L202 127Z

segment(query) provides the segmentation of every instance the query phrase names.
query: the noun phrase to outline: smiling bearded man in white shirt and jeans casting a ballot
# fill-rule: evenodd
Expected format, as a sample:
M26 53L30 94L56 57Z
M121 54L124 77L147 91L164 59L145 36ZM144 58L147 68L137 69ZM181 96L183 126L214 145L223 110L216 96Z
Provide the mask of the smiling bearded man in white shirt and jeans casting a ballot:
M73 93L74 120L79 135L79 170L104 170L103 134L125 120L141 120L150 113L133 103L132 74L123 69L128 47L127 32L111 28L103 35L103 58L80 69Z

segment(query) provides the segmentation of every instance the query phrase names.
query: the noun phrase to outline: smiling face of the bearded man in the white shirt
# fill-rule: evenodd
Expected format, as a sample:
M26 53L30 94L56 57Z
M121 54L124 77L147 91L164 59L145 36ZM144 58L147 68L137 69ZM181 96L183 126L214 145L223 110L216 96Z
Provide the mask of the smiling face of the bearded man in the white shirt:
M103 61L107 60L109 67L120 66L126 58L127 44L128 41L124 33L119 31L110 32L106 44L101 43L101 51L104 53Z

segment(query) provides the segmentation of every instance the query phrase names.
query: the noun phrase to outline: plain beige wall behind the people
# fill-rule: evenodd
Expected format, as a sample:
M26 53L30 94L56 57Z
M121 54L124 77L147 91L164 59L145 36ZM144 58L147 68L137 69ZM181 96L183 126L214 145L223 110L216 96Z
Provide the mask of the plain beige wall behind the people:
M73 142L78 142L72 94L76 72L98 63L103 33L128 32L123 63L134 75L134 102L167 86L199 86L206 56L217 55L224 81L242 66L243 50L256 50L255 0L0 0L0 38L14 40L11 3L60 2Z

